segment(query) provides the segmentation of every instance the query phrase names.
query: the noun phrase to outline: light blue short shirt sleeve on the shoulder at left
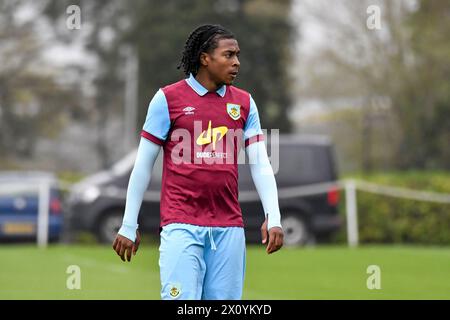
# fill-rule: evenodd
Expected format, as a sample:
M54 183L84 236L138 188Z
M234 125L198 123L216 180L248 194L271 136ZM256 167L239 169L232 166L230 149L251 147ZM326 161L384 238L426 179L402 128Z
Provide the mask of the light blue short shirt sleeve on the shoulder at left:
M142 130L164 141L170 129L170 116L167 99L164 92L159 89L148 106Z

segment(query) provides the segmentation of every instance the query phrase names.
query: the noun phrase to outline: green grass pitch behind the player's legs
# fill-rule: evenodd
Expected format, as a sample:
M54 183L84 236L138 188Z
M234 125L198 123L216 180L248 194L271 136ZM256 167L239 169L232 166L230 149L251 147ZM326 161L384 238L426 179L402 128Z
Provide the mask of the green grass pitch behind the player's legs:
M158 247L142 245L131 263L110 246L0 246L0 299L159 299ZM81 270L69 290L68 266ZM367 288L369 265L381 289ZM450 248L340 246L247 247L243 299L450 299Z

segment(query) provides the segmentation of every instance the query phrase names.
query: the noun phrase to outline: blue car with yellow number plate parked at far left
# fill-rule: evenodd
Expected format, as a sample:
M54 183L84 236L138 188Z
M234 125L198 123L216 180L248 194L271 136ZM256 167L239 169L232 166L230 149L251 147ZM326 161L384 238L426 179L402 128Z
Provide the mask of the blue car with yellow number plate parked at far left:
M62 201L57 178L47 172L0 173L0 240L35 240L39 211L37 188L50 183L48 236L60 238L63 227Z

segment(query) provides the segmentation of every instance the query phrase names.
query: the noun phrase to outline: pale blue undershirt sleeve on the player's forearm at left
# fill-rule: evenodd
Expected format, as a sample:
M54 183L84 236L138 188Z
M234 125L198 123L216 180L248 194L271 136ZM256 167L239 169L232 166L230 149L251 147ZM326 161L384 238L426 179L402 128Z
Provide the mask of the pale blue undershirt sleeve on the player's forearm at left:
M136 240L139 210L141 208L142 199L144 198L144 193L147 190L151 179L153 165L155 164L160 149L161 146L145 138L141 138L136 161L128 183L122 226L118 232L120 235L131 241Z

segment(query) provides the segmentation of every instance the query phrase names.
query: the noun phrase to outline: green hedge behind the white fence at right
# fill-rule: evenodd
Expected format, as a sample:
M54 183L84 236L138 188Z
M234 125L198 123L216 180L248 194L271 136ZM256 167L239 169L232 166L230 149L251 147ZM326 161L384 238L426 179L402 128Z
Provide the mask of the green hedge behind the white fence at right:
M449 172L406 172L352 175L387 186L450 194ZM337 242L346 241L345 193L342 193L340 214L344 227ZM450 204L393 198L357 191L360 243L450 244Z

